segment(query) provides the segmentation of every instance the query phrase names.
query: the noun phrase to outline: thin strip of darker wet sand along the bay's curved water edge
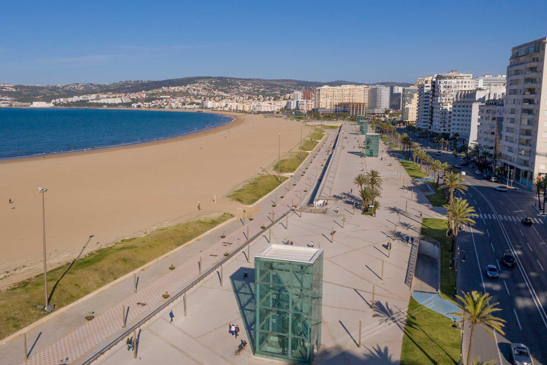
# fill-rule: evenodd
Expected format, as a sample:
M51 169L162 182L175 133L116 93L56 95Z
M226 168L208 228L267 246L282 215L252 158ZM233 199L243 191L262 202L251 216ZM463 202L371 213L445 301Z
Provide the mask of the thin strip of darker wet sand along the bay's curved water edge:
M28 108L28 109L51 109L51 108ZM95 108L65 108L65 109L95 109ZM98 109L98 108L97 108ZM126 110L126 109L118 109L118 108L101 108L100 110ZM184 111L184 110L176 110L176 109L135 109L135 110L150 110L150 111L176 111L176 112L194 112L197 113L197 111ZM78 150L69 150L69 151L62 151L62 152L48 152L48 153L42 153L42 154L34 154L34 155L27 155L27 156L18 156L18 157L7 157L7 158L0 158L0 164L9 163L10 161L21 161L21 160L34 160L34 159L48 159L48 158L60 158L65 157L67 155L79 155L79 154L90 154L90 153L100 153L104 151L109 151L113 149L125 149L125 148L136 148L141 146L149 146L154 144L160 144L160 143L168 143L172 141L182 141L185 139L191 139L191 138L197 138L205 135L212 135L217 132L224 131L226 129L230 129L232 127L238 126L241 123L243 123L242 116L245 115L238 115L236 112L217 112L217 111L202 111L203 113L210 113L210 114L218 114L223 115L224 117L231 118L231 120L226 121L226 123L219 124L216 126L213 126L211 128L202 128L200 130L190 132L186 135L179 135L179 136L173 136L173 137L164 137L164 138L156 138L155 140L150 141L142 141L142 142L130 142L130 143L124 143L124 144L114 144L112 146L105 146L105 147L92 147L92 148L84 148L84 149L78 149ZM208 132L210 132L208 134Z

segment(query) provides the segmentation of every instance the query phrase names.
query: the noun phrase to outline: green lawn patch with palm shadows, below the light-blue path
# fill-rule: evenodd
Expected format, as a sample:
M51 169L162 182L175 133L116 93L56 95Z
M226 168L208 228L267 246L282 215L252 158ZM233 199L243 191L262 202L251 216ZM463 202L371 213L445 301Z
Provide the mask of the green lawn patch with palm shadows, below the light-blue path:
M459 330L450 318L410 297L400 365L455 365L461 346Z

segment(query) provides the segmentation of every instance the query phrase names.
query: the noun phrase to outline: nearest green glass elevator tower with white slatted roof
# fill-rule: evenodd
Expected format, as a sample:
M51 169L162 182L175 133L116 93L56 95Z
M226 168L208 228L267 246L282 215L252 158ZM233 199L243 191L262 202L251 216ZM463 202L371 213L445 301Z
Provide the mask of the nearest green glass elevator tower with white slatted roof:
M311 363L321 345L323 250L270 245L254 267L254 355Z

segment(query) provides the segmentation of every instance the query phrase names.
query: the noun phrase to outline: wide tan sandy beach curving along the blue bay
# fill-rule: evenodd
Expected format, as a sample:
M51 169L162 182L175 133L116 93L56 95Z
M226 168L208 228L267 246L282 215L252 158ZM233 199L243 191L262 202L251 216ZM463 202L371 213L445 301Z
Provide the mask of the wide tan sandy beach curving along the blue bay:
M0 288L40 273L45 193L48 269L123 238L211 215L224 198L300 141L300 123L242 115L199 134L89 152L0 161ZM304 131L304 136L309 131ZM216 202L213 197L216 195ZM8 200L14 201L8 204ZM201 210L197 210L197 202ZM90 236L91 239L90 239Z

